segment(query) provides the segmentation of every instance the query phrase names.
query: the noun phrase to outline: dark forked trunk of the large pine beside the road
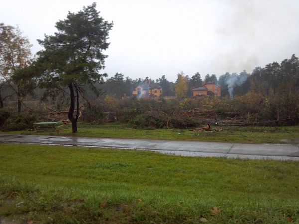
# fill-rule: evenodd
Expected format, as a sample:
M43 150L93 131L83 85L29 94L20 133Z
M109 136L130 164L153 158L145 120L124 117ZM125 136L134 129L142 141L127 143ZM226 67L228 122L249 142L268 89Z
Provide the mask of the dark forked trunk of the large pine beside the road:
M76 89L76 96L75 96L75 90ZM69 89L70 89L70 97L71 97L71 104L70 104L70 109L68 112L68 118L72 123L72 133L77 133L77 120L79 118L79 91L76 85L70 83L69 84ZM74 117L74 111L75 111L75 98L77 99L77 114L76 117Z

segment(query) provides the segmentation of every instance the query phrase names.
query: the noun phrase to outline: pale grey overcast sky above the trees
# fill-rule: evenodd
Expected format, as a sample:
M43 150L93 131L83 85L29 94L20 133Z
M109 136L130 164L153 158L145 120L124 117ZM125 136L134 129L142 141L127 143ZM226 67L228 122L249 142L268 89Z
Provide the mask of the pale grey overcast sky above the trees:
M299 57L299 0L0 0L0 22L18 25L35 54L36 39L93 2L114 22L104 52L109 77L219 78Z

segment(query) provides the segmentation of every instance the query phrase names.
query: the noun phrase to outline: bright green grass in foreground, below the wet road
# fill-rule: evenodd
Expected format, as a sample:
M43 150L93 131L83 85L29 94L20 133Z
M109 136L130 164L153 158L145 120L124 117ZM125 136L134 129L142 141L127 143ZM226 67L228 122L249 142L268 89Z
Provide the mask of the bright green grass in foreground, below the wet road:
M299 161L0 144L0 217L15 223L299 223L298 183Z

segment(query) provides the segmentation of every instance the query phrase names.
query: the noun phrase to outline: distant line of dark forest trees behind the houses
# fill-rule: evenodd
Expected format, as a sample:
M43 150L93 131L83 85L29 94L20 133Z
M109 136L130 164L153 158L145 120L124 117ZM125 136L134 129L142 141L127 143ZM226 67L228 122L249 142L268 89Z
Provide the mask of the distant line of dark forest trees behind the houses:
M256 91L264 91L265 94L276 93L295 93L299 90L299 59L293 54L290 59L285 59L281 63L273 62L265 67L256 67L252 73L243 71L237 73L225 73L217 79L215 74L202 75L197 72L193 76L184 76L180 72L186 83L184 97L192 96L192 89L201 87L202 83L214 81L221 87L221 96L241 96L246 94L251 88ZM132 80L130 77L124 77L122 73L116 73L113 77L106 80L99 86L104 95L114 96L118 99L132 96L132 90L140 82L150 80L158 83L163 88L163 96L175 96L175 83L167 80L165 75L161 78L152 80L149 77Z

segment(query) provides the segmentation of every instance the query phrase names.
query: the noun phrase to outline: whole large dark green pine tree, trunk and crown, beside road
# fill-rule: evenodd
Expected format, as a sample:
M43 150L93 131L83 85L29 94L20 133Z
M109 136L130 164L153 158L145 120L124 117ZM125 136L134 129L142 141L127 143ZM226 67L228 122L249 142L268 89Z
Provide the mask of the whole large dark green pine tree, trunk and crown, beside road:
M107 76L99 71L104 68L107 58L102 51L109 46L107 39L112 26L112 22L99 16L96 3L93 3L78 13L69 12L65 20L56 23L58 32L38 40L45 48L37 53L39 58L35 63L40 73L40 86L46 89L46 94L68 88L68 118L72 122L73 133L77 132L79 95L84 92L83 85L99 93L94 84L103 82L103 77ZM74 115L75 105L77 112Z

